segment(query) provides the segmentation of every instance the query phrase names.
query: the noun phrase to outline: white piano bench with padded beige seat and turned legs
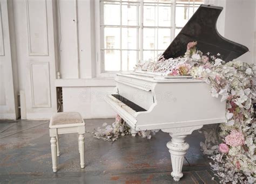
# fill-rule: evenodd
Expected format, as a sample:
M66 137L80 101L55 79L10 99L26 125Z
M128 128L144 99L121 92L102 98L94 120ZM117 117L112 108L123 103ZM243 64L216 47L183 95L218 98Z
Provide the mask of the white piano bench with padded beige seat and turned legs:
M53 172L57 172L57 157L59 157L59 134L78 133L78 150L80 165L84 168L84 133L85 123L78 112L57 112L50 120L51 157Z

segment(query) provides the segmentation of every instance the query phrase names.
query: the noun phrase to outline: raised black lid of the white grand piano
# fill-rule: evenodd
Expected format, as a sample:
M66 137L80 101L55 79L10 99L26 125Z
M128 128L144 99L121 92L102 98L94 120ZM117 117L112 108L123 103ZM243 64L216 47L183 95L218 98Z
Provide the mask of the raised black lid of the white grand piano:
M204 54L207 52L210 52L211 55L220 53L220 57L226 62L246 53L248 51L246 46L234 43L218 33L216 23L222 10L223 8L220 6L200 5L165 50L164 58L178 58L184 55L187 44L191 41L197 41L197 48Z

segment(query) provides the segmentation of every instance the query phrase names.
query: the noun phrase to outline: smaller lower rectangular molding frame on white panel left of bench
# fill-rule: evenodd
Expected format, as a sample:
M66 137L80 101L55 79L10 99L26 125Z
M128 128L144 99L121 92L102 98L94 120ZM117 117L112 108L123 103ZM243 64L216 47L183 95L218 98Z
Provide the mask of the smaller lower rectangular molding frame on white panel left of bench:
M35 81L35 77L33 75L33 67L36 65L42 65L46 67L46 75L45 76L41 76L41 79L43 79L43 77L46 77L46 86L41 88L41 89L45 89L46 87L48 87L47 90L47 96L46 97L46 103L44 104L37 104L36 102L36 92L35 92L35 84L37 81ZM37 75L39 75L37 73ZM32 108L50 108L51 107L51 86L50 86L50 67L49 67L49 62L30 62L30 82L31 82L31 96L32 96ZM40 81L38 81L40 82ZM36 87L38 88L38 86Z

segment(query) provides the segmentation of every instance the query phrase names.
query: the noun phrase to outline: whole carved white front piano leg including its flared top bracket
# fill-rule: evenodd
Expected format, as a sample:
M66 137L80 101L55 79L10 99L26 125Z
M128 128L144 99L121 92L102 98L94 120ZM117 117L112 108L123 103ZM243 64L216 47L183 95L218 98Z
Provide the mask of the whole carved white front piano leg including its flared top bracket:
M162 129L161 131L167 132L172 137L166 146L169 148L172 160L172 177L175 181L179 181L182 178L183 173L182 166L185 154L190 147L186 141L185 137L190 135L194 130L201 129L203 125L197 126L186 126L181 128L172 129Z

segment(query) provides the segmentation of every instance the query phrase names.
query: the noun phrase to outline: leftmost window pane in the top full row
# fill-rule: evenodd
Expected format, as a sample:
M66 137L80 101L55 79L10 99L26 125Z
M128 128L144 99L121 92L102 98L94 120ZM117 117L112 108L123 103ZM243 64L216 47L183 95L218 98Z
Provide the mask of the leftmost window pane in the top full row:
M104 4L104 25L120 25L120 5Z

